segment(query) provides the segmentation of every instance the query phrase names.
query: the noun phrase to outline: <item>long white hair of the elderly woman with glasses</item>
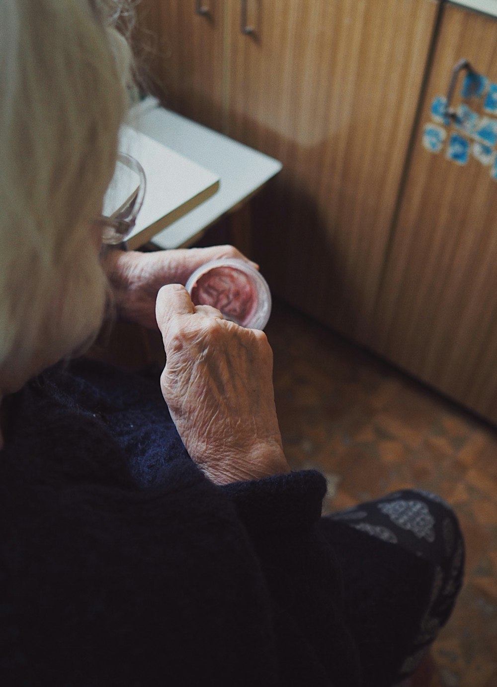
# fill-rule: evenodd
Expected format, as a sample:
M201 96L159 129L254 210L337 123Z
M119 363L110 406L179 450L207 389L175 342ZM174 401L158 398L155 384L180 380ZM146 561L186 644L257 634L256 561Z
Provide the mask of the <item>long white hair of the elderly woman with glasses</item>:
M0 3L0 376L102 321L91 245L115 168L130 51L119 0Z

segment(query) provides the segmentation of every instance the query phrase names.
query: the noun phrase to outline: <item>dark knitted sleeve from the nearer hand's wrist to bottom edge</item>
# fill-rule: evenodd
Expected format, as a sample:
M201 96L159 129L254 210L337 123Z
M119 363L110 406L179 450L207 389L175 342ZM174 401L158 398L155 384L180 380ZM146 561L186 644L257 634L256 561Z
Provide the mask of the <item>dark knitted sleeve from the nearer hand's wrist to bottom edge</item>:
M282 684L360 684L341 572L318 527L323 475L294 471L222 489L249 533L270 590Z

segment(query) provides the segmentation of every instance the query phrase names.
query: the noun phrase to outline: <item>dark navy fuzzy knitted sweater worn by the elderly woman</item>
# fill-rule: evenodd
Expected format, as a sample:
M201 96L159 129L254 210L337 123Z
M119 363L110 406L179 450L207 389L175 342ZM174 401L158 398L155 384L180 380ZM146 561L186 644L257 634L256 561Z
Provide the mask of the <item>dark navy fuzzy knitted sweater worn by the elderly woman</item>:
M158 375L85 360L7 411L0 684L359 684L320 473L216 486Z

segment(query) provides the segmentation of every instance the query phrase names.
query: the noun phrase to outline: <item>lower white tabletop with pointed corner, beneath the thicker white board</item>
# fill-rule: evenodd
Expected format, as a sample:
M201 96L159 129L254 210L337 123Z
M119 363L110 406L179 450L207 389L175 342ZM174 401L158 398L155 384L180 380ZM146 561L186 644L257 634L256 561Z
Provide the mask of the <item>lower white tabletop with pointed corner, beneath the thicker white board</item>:
M192 245L207 227L230 212L233 213L233 243L249 254L246 201L281 170L281 162L164 109L156 98L148 97L135 105L128 123L220 178L218 191L154 236L154 245L160 248Z

